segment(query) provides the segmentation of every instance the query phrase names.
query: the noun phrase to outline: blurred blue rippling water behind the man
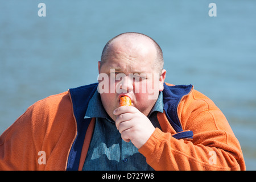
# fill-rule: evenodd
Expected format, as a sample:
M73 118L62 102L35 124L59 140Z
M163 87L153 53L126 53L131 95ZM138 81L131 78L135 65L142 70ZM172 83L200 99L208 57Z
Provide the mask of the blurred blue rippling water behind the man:
M46 4L46 17L38 4ZM217 16L210 17L209 3ZM0 134L34 102L97 82L102 48L142 32L164 52L166 81L220 107L256 169L256 1L0 0Z

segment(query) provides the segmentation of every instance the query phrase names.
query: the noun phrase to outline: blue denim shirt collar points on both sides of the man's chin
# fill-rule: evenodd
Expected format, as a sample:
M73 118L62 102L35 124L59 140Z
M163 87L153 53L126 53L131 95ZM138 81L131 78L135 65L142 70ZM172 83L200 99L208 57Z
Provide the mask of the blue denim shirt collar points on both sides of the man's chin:
M154 111L159 111L163 113L163 106L164 106L163 93L160 92L158 96L158 100L156 100L155 105L152 107L150 111L150 114L148 114L148 117L150 117L150 115L154 113ZM86 118L107 118L109 120L112 120L109 117L108 113L106 113L104 106L102 105L102 102L101 102L100 93L98 93L97 90L89 101L84 118L85 119Z

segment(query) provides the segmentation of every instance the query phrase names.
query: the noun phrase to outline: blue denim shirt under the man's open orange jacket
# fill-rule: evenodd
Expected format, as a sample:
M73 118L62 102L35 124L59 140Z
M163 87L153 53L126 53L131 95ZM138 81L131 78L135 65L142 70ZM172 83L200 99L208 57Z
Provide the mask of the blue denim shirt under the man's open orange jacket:
M162 92L148 115L152 125L161 129L156 117L157 111L163 113ZM106 113L97 90L88 104L85 118L96 118L96 122L82 170L154 170L133 143L122 140L115 122Z

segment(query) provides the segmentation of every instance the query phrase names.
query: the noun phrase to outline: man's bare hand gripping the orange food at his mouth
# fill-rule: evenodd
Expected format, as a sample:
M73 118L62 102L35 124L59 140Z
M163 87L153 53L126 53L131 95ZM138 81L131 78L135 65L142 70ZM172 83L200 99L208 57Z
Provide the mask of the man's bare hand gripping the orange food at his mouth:
M125 142L132 142L135 147L141 148L155 131L151 121L136 107L121 106L114 110L117 115L115 126Z

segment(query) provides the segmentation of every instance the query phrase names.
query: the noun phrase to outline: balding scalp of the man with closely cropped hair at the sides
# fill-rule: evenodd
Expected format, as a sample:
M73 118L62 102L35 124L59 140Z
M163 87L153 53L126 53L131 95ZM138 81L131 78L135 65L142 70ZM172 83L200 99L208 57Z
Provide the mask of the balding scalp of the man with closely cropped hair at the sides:
M107 60L110 53L123 51L121 49L128 51L127 53L143 54L152 53L155 57L155 64L152 65L160 73L163 69L163 52L159 47L158 43L154 39L147 35L140 34L137 32L127 32L115 36L113 39L106 43L102 55L101 55L101 66Z

